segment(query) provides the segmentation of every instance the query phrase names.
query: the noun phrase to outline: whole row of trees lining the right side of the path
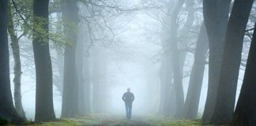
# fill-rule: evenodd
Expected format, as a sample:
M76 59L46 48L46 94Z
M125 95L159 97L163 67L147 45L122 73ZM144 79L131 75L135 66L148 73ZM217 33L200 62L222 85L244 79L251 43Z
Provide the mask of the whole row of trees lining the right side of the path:
M185 2L179 0L175 4L169 1L170 5L175 6L171 10L167 9L167 17L169 19L164 24L168 26L163 26L164 29L169 28L171 30L164 31L167 34L165 36L167 39L162 40L164 58L161 65L162 69L160 69L160 76L162 76L160 77L162 83L160 113L164 113L166 116L186 119L198 118L201 83L205 63L207 63L205 56L209 46L208 92L202 120L210 124L228 124L230 121L234 125L253 125L255 123L252 116L254 113L252 109L254 93L247 88L250 83L254 83L254 81L249 80L252 74L250 76L247 74L248 71L252 72L251 69L253 68L250 67L254 67L250 63L250 61L253 61L250 58L254 57L252 53L248 57L247 64L249 65L247 65L239 102L235 109L235 94L241 64L243 39L253 2L253 0L247 2L240 0L235 0L235 2L205 0L202 2L204 21L202 21L198 33L194 51L194 65L190 73L186 100L184 100L182 87L183 43L180 43L179 39L177 39L177 36L182 35L181 32L177 34L177 28L179 28L180 24L178 15L179 13L182 15L181 8L183 4L186 5L186 8L189 8L189 3L192 3L193 7L197 7L195 3L198 4L198 1L186 0ZM187 13L186 20L190 20L189 14ZM193 22L193 20L190 21ZM182 31L181 29L179 28L179 31ZM254 43L254 38L251 43ZM250 52L253 50L253 44L251 44ZM250 90L253 89L251 86L249 87ZM245 91L244 88L247 88L247 90ZM246 96L243 94L245 92L247 92L248 97L250 95L250 99L245 99ZM172 98L174 96L175 98ZM171 105L173 102L175 105ZM249 108L250 113L246 113L245 111L249 110Z

